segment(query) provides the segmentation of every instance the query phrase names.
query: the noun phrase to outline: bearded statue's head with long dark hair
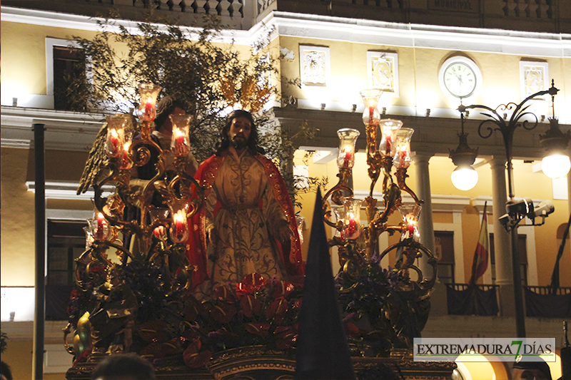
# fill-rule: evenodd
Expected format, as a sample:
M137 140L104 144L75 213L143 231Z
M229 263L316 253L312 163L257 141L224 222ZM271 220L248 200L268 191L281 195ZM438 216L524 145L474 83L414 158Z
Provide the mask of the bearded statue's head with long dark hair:
M226 119L222 128L221 142L218 143L216 154L221 155L230 146L236 150L249 148L253 154L264 153L263 148L258 146L258 128L254 123L251 113L244 110L233 111Z

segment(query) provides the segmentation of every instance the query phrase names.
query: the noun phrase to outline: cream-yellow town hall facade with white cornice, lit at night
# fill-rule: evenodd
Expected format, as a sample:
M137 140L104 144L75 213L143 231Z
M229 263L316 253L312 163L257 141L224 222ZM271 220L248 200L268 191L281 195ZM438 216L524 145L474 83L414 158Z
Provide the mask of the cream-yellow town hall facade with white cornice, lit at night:
M250 49L259 38L268 38L271 54L280 58L283 78L297 79L289 86L272 78L281 90L268 112L280 128L295 130L301 123L318 128L315 138L298 142L293 157L296 173L336 180L340 128L355 128L361 135L357 147L353 186L365 196L365 129L361 120L363 101L359 91L382 88L380 110L388 118L402 120L415 129L415 152L409 169L409 186L425 200L420 220L421 239L441 261L440 284L433 294L427 337L512 337L515 318L509 235L498 217L505 213L505 147L499 133L480 138L477 127L485 116L470 110L464 125L469 143L479 148L475 188L460 191L450 182L455 166L449 149L458 145L460 106L458 91L446 86L451 64L464 65L475 77L470 93L460 93L463 105L496 108L520 103L531 93L551 86L555 115L562 130L571 124L571 5L566 1L515 0L182 0L176 1L17 1L6 0L1 8L1 286L2 331L8 332L6 360L28 358L18 365L19 378L31 376L32 324L29 306L34 305L34 123L46 127L46 222L47 283L69 282L69 265L81 253L81 239L64 230L80 230L91 217L89 193L75 195L87 152L103 120L103 114L65 111L57 99L59 47L72 36L91 38L98 31L93 17L118 9L126 26L142 20L144 13L171 17L181 25L200 25L203 14L217 14L227 25L221 43L233 41ZM268 37L269 36L269 37ZM521 227L522 277L528 287L547 287L551 282L557 250L570 214L569 176L550 180L538 163L544 152L540 134L552 115L550 98L530 102L540 120L534 130L517 128L514 135L516 197L534 203L551 200L555 212L540 227ZM505 111L508 113L508 111ZM509 118L509 115L506 115ZM306 153L312 153L307 155ZM376 194L376 193L375 193ZM379 195L380 197L380 195ZM302 195L300 214L311 224L312 194ZM482 208L488 202L489 230L494 260L483 284L497 285L496 316L449 315L445 283L465 284L470 279ZM398 223L400 217L393 215ZM362 219L365 217L363 215ZM527 220L527 224L530 220ZM308 230L305 230L308 234ZM385 234L386 235L386 234ZM381 249L397 237L381 237ZM75 235L77 236L77 234ZM305 251L308 239L304 242ZM571 287L565 273L571 269L567 244L560 261L561 286ZM66 255L62 256L64 250ZM60 252L59 254L57 252ZM56 260L57 257L57 260ZM333 252L333 263L337 261ZM385 265L393 265L389 257ZM338 264L337 264L338 267ZM27 305L27 306L26 306ZM15 312L10 322L10 312ZM27 313L27 314L26 314ZM31 314L33 319L33 312ZM561 318L528 317L528 336L562 337ZM63 379L71 356L60 347L62 321L46 322L46 379ZM3 356L4 356L3 355ZM3 358L4 360L4 358ZM29 365L31 368L31 364ZM505 368L490 364L497 379L508 376ZM478 369L477 371L481 371ZM473 371L464 369L465 379ZM472 375L470 375L472 374ZM473 377L476 379L477 377Z

